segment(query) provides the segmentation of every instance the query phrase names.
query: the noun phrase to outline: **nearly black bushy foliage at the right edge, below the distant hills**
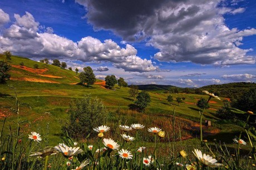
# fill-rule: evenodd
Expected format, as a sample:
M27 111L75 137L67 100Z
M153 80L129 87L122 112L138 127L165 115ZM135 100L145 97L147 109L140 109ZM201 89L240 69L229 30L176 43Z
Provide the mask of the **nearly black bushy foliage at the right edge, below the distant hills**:
M256 112L256 87L249 89L249 91L243 92L243 95L232 106L243 110Z

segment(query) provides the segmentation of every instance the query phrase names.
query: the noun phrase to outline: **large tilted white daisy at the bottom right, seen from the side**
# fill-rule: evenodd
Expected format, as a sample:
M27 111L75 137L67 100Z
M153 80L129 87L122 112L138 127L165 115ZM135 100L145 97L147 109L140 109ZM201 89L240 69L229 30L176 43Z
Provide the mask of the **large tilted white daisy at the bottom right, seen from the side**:
M223 166L223 164L221 164L221 163L216 163L217 160L214 159L213 157L209 156L209 154L207 154L207 155L205 153L202 154L202 152L198 149L195 149L193 153L195 154L196 158L198 158L198 160L201 163L205 164L208 167L218 168L220 166Z

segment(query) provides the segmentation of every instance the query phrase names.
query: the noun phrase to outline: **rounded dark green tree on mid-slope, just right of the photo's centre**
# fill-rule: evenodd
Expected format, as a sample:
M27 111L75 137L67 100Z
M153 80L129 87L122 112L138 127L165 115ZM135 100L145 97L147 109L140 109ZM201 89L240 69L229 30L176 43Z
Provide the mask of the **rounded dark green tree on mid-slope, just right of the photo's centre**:
M140 111L144 112L146 107L150 105L150 95L146 91L141 91L136 97L135 105Z

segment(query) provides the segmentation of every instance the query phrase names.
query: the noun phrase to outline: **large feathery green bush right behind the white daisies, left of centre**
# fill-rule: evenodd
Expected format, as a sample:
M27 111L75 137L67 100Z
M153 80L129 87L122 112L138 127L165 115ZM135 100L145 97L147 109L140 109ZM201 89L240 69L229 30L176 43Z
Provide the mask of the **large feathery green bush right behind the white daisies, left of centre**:
M90 95L82 99L73 100L68 109L69 120L62 127L63 132L74 138L85 138L94 127L106 122L107 111L105 105L99 99L93 99Z

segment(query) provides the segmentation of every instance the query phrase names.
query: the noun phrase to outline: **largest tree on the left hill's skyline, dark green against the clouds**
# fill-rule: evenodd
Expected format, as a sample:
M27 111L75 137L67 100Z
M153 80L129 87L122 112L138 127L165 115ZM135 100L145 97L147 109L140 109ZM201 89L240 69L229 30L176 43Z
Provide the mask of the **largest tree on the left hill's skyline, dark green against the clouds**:
M80 83L87 84L87 87L89 85L93 85L96 81L95 75L93 74L93 70L90 66L87 66L86 68L83 68L83 71L79 75Z

